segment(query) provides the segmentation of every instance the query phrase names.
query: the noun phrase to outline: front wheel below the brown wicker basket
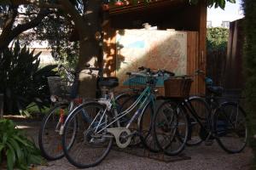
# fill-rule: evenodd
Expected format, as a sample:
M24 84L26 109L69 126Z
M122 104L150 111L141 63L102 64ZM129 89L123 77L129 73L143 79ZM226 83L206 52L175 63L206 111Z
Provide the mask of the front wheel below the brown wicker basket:
M185 147L189 122L186 112L176 102L165 101L154 115L154 139L160 150L168 156L176 156Z

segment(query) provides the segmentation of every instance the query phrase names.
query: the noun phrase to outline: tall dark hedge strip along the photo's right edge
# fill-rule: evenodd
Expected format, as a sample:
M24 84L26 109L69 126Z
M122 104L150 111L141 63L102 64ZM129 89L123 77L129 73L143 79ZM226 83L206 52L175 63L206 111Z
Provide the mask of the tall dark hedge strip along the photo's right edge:
M253 139L253 134L256 134L256 1L243 0L243 9L245 14L244 20L244 70L246 77L245 94L247 97L247 115L249 121L249 139L254 152L254 166L256 167L256 139Z

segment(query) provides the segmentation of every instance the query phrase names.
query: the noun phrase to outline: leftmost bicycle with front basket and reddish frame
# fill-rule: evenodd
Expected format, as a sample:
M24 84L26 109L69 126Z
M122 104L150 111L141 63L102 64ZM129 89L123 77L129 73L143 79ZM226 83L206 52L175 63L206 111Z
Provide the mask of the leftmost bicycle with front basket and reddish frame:
M86 65L84 70L99 71L101 69ZM44 158L54 161L64 156L61 146L61 134L65 119L76 105L83 103L83 99L77 97L77 89L80 71L70 71L64 65L58 66L61 77L49 77L50 99L55 104L44 116L38 133L38 145ZM84 113L84 118L88 118ZM75 126L75 124L74 124ZM75 132L73 133L75 134Z

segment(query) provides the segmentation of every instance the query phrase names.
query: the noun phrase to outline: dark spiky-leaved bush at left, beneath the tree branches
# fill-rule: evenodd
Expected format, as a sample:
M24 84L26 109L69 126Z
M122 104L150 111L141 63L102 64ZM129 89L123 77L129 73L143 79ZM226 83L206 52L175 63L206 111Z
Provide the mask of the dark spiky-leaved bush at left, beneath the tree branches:
M39 108L49 105L47 77L55 76L56 65L38 69L39 54L34 50L20 48L18 42L14 49L6 49L0 54L0 93L4 94L4 109L8 112L22 111L32 102Z

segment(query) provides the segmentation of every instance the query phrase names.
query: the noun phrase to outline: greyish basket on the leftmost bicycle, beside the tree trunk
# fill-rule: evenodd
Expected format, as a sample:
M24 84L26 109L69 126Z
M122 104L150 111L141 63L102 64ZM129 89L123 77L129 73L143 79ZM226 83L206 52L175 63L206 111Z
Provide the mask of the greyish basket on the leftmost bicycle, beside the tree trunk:
M68 99L73 89L73 82L62 77L48 77L49 93Z

